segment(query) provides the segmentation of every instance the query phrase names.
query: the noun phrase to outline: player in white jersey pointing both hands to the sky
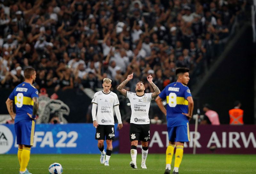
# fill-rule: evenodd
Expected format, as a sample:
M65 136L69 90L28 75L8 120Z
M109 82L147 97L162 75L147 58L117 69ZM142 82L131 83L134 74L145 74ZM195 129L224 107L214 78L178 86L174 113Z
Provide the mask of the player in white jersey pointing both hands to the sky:
M130 141L131 141L131 156L132 161L130 166L137 169L136 158L137 158L137 145L138 141L142 144L142 160L141 168L147 169L146 159L148 156L148 141L150 141L150 127L148 110L150 107L151 100L154 100L160 90L152 82L153 78L151 75L147 76L148 82L152 85L155 92L145 93L145 87L143 82L138 82L136 84L136 93L126 91L124 88L125 84L128 83L133 78L133 73L128 75L127 79L124 80L118 87L117 90L121 92L125 97L129 98L131 103L132 115L130 121Z

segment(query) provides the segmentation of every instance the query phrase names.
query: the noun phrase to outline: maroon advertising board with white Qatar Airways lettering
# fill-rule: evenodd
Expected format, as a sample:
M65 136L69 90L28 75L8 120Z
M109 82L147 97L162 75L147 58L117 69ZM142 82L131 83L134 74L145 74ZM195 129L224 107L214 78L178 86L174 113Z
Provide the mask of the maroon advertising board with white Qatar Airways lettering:
M193 153L195 143L196 153L256 154L255 125L199 125L195 139L195 125L190 125L189 130L190 142L184 144L184 153ZM129 125L124 125L119 136L119 152L130 153ZM169 143L167 126L150 125L150 139L148 145L150 153L165 154ZM141 144L138 145L137 150L141 152Z

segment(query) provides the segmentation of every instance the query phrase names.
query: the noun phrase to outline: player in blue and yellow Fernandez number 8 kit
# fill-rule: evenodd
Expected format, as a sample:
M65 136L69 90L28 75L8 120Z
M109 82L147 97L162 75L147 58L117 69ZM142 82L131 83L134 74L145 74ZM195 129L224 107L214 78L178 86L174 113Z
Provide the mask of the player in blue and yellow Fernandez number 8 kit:
M166 115L169 145L166 149L166 167L164 174L171 170L173 151L176 145L175 162L173 174L179 173L179 167L183 156L184 142L189 140L188 121L192 117L194 108L193 98L189 88L186 86L189 81L189 69L177 68L177 82L170 83L156 98L160 110ZM167 99L166 109L162 103Z

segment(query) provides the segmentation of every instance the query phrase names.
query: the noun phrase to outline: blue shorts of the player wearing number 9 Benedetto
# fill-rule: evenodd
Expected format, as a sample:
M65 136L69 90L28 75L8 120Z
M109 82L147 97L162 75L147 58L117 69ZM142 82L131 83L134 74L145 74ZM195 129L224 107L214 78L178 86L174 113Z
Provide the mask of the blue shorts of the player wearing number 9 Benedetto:
M34 145L35 121L19 121L14 124L17 144Z

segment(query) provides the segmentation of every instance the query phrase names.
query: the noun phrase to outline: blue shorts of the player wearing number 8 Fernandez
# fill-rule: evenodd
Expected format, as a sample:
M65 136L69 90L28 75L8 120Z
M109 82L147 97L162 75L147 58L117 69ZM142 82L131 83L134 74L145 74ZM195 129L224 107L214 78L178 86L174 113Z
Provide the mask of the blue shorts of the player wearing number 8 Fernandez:
M188 142L189 139L189 127L187 125L167 127L169 141L172 142Z

